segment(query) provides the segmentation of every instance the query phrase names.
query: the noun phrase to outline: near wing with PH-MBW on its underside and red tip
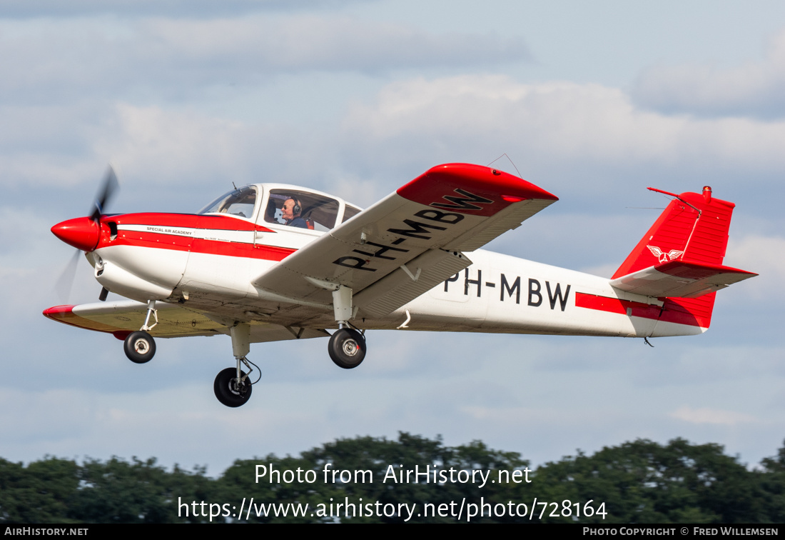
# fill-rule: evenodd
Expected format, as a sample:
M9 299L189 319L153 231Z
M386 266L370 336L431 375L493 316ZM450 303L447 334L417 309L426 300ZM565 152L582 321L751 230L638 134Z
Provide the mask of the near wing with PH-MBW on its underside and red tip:
M520 226L557 197L512 174L466 163L433 167L301 248L253 284L293 303L330 305L352 288L381 317L471 264L471 252Z

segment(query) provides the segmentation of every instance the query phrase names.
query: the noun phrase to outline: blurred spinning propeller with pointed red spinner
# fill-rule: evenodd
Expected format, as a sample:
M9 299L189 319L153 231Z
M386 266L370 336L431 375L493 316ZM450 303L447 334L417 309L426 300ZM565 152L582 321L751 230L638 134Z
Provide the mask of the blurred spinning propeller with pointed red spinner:
M77 218L58 223L56 226L52 227L52 232L55 236L67 244L76 247L76 252L55 282L55 289L57 291L57 296L60 297L60 301L68 302L68 297L71 296L71 288L73 288L76 279L76 267L79 265L79 253L89 251L90 244L94 247L95 244L92 242L93 237L95 237L97 243L100 216L104 214L109 201L114 197L119 188L120 183L117 179L117 173L115 173L114 167L110 164L104 175L104 181L101 182L95 200L93 200L93 207L90 208L89 221L86 221L86 218ZM90 221L93 222L93 224L90 224ZM103 302L106 299L107 293L108 290L106 288L101 288L98 299Z

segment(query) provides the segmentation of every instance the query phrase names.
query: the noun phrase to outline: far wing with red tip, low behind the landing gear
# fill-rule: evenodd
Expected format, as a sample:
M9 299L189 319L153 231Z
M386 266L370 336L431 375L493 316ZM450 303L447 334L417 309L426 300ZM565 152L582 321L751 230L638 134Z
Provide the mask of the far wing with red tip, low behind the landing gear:
M220 318L201 311L188 309L180 304L157 304L158 324L150 333L155 337L215 336L228 334L228 327ZM79 306L55 306L44 310L44 315L53 321L78 326L97 332L108 332L122 340L141 328L147 304L125 300L122 302L85 303ZM265 322L250 322L251 343L305 339L329 336L317 329L291 329Z

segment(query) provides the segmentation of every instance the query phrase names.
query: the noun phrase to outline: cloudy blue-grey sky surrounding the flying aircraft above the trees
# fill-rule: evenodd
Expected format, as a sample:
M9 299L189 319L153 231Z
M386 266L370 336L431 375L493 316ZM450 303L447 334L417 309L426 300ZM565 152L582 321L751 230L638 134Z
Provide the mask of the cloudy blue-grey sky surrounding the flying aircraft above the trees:
M785 439L785 4L389 0L0 3L0 457L157 457L220 474L356 435L481 439L533 465L645 438L744 463ZM736 203L702 336L642 340L368 332L358 369L324 340L257 343L230 410L226 336L158 340L138 366L42 310L94 302L49 228L192 212L254 182L369 206L439 163L488 164L560 197L487 246L610 277L665 197ZM119 297L110 295L110 299Z

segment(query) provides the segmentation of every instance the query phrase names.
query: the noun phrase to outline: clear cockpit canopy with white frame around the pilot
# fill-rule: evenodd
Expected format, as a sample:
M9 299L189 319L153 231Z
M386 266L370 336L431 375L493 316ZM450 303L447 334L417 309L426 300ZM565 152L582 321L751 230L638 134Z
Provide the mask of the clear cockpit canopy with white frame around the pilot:
M261 204L264 209L261 210ZM360 213L360 208L337 197L294 186L244 186L221 195L199 214L228 214L259 225L283 225L316 231L332 230Z

